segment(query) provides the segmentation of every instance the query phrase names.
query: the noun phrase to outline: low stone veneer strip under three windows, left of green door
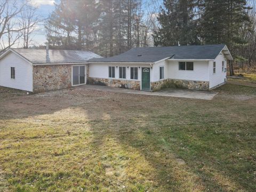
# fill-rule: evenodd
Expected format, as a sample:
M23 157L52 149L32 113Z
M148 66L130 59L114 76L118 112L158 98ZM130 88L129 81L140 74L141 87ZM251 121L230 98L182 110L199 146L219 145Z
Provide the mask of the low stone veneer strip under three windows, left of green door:
M140 81L89 77L89 84L140 90Z

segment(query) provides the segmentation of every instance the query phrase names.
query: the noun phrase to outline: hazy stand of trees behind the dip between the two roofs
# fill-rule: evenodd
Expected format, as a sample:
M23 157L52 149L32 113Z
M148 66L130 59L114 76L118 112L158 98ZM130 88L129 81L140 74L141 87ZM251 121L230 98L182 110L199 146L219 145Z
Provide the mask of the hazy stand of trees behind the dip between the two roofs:
M152 46L142 0L60 1L45 24L50 46L89 49L104 57ZM151 42L150 42L151 38Z

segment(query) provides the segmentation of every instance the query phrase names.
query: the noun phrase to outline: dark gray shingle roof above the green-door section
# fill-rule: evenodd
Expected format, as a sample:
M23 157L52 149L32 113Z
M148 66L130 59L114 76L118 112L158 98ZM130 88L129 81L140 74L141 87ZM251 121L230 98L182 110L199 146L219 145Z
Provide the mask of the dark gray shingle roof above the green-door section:
M226 45L189 45L133 48L109 58L93 58L90 62L156 62L172 59L215 59ZM231 56L231 55L230 55Z

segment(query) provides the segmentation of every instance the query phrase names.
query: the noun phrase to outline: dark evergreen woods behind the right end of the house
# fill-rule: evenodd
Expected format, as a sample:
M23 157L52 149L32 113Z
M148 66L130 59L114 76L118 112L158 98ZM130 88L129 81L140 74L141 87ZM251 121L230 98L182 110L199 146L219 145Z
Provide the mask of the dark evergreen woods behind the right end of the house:
M157 46L226 44L237 64L255 63L255 2L164 0L154 32ZM203 54L203 53L202 53ZM234 74L230 62L230 74Z

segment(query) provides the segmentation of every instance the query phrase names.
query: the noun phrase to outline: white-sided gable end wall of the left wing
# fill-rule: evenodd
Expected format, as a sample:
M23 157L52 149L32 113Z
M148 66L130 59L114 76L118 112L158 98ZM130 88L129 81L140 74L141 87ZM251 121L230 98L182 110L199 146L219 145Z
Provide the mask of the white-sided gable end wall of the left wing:
M11 67L15 78L11 78ZM33 66L28 61L10 52L0 60L0 86L33 92Z

